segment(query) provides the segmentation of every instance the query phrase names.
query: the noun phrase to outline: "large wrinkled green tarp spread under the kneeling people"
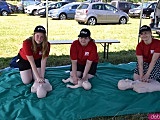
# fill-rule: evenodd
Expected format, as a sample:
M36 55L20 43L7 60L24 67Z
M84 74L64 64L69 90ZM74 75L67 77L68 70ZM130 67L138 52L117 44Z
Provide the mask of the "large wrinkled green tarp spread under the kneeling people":
M160 112L160 92L138 94L120 91L120 79L132 79L135 63L112 65L100 63L91 79L92 89L66 88L63 78L69 77L69 66L47 68L46 78L53 91L38 99L24 85L19 71L0 73L0 120L80 120L98 116Z

